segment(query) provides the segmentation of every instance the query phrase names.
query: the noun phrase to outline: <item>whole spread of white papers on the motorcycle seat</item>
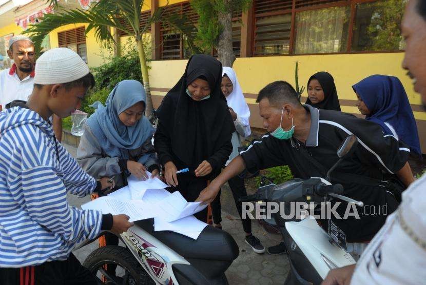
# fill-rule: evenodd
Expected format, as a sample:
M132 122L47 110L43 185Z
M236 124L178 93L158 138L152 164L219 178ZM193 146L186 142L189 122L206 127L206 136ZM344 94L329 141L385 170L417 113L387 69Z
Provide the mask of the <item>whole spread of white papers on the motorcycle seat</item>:
M146 172L148 177L151 173ZM205 209L200 202L187 202L180 192L170 194L159 178L145 181L134 176L127 178L128 186L108 196L94 199L82 205L82 209L98 210L103 214L126 214L129 221L154 218L155 231L173 231L197 239L207 223L193 214Z

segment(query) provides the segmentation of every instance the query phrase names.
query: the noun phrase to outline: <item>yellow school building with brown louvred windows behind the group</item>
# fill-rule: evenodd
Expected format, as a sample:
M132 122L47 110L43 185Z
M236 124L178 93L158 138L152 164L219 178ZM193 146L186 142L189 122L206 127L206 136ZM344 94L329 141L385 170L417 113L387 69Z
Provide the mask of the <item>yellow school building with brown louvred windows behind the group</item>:
M87 9L96 0L60 0L66 8ZM426 113L420 95L402 69L404 43L399 24L406 0L253 0L250 9L233 14L234 69L251 111L250 125L262 128L256 97L274 80L295 84L299 64L299 85L318 71L334 78L342 111L358 114L352 85L372 75L397 76L408 94L423 152L426 152ZM152 11L184 14L197 25L198 15L190 1L146 0L142 23ZM63 8L61 8L63 9ZM43 13L54 12L45 0L0 0L0 69L7 68L7 40L20 34ZM145 22L146 23L146 22ZM78 52L90 67L104 63L105 52L93 32L84 36L86 24L67 25L52 31L44 48L68 47ZM149 79L154 107L175 85L185 70L190 52L186 39L158 24L148 29L152 42ZM121 45L128 35L116 34ZM214 54L214 52L212 52ZM306 99L307 92L302 94Z

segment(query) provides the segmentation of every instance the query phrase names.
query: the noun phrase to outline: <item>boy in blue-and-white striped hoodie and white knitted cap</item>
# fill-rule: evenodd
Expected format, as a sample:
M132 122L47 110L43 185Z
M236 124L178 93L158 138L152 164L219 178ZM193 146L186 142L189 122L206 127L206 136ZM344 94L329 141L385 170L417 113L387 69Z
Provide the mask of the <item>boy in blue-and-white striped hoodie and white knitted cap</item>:
M28 102L0 112L0 282L96 284L71 253L101 230L120 234L126 215L70 207L67 192L86 196L113 187L89 176L56 141L48 119L79 108L93 75L78 54L56 48L38 58Z

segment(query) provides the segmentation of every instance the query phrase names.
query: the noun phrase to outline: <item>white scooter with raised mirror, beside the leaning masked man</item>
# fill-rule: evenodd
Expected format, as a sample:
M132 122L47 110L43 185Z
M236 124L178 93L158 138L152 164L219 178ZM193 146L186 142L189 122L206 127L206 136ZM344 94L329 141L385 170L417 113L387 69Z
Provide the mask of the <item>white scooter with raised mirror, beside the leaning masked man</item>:
M353 135L345 139L337 151L340 159L328 171L327 177L330 177L330 173L345 156L354 151L356 144L357 138ZM290 207L288 202L320 203L330 200L331 197L363 207L362 202L340 195L343 192L342 185L331 185L327 180L330 179L312 177L306 180L292 179L280 185L271 183L261 186L254 195L241 197L240 201L275 202L280 206L284 205L286 215L291 211L287 209L287 206ZM285 284L320 284L331 269L356 262L349 252L353 251L354 247L363 246L346 243L344 233L333 222L327 233L314 217L284 219L280 214L281 210L271 216L283 236L291 265Z

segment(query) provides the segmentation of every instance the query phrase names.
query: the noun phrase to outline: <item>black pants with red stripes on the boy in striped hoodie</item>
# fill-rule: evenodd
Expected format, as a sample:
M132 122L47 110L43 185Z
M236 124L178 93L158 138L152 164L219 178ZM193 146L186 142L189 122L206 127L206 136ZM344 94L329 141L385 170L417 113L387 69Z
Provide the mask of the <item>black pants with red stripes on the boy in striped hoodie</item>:
M3 285L96 285L95 276L71 253L67 260L23 268L0 268Z

